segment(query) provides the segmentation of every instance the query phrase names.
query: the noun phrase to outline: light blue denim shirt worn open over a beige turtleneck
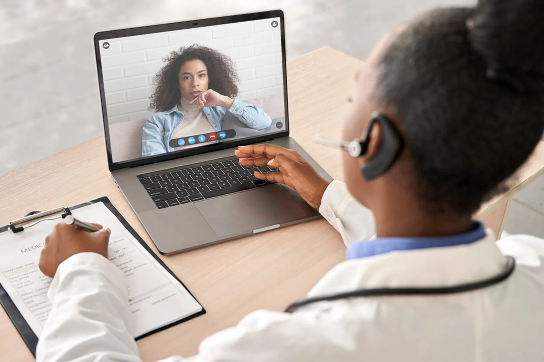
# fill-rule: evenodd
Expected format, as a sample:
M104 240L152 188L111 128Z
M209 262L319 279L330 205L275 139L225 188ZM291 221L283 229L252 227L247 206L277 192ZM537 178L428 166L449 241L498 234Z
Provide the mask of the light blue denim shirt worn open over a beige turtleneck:
M203 107L209 123L215 131L221 131L227 109L221 106ZM228 109L240 122L249 128L262 130L272 124L272 119L259 107L234 100ZM141 138L141 156L152 156L174 151L169 142L176 128L183 122L183 112L177 104L171 110L153 113L144 124ZM190 136L190 135L188 135Z

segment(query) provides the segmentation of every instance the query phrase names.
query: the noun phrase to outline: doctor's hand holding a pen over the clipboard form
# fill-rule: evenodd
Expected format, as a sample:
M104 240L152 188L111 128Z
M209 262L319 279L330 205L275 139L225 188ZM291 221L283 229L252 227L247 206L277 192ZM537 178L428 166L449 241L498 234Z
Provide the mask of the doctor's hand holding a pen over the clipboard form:
M55 225L51 234L45 238L45 246L41 250L41 272L48 277L54 277L60 263L78 253L94 252L107 258L111 231L109 228L102 228L100 224L92 225L102 230L86 232L65 223Z

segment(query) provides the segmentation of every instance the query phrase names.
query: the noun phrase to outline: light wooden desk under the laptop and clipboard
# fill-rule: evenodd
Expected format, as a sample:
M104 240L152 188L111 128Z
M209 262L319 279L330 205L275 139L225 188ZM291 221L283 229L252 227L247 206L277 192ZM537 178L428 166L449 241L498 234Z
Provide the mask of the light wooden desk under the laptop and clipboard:
M339 139L349 108L347 92L353 85L353 77L345 74L353 74L361 64L323 48L287 65L292 135L339 180L343 179L339 151L318 145L312 138L320 133ZM338 75L339 69L344 75ZM494 217L492 221L500 228L508 200L542 172L544 145L540 144L511 191L487 203L479 217ZM0 223L28 211L76 205L107 195L157 252L109 174L102 137L0 176L0 185ZM322 219L161 256L208 313L138 341L141 357L155 361L172 354L193 355L202 339L236 325L253 310L284 309L303 298L325 272L344 259L344 253L341 237ZM33 360L4 310L0 312L0 351L2 361Z

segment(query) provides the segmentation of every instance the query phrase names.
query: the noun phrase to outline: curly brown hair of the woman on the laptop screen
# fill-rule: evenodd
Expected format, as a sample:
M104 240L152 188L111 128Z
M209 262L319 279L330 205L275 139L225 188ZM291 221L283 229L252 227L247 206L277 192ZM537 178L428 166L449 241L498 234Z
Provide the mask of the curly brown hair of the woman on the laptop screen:
M228 56L217 50L193 44L174 50L163 59L166 65L153 78L156 85L151 94L150 109L157 112L168 111L180 103L181 92L178 88L178 73L183 64L189 60L201 60L208 68L208 89L234 98L238 95L238 74Z

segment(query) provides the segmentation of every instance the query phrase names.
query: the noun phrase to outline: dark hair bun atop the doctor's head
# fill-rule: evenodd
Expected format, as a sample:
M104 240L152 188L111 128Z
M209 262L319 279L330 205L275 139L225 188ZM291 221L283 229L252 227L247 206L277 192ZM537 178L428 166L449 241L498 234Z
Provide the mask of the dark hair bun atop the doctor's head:
M544 73L544 0L479 0L467 27L490 69Z

